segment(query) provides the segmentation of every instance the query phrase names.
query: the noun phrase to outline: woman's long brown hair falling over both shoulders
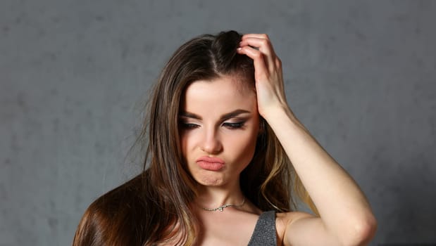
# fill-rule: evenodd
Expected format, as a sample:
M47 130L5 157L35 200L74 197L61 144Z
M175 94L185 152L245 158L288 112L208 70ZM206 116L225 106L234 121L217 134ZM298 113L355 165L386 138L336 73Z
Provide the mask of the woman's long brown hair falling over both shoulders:
M185 89L199 79L237 76L254 88L253 60L236 53L241 34L204 34L180 46L163 68L149 101L139 142L148 143L144 171L89 206L77 228L78 245L193 245L199 233L189 205L196 182L180 148L178 116ZM313 205L278 138L261 118L254 157L240 175L242 193L259 209L289 212L297 195Z

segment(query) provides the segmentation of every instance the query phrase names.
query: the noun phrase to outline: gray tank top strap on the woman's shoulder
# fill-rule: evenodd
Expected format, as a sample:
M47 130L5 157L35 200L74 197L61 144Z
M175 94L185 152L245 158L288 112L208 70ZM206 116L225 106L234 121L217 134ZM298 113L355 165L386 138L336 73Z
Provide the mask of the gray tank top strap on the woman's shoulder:
M275 211L263 212L259 216L248 246L277 246Z

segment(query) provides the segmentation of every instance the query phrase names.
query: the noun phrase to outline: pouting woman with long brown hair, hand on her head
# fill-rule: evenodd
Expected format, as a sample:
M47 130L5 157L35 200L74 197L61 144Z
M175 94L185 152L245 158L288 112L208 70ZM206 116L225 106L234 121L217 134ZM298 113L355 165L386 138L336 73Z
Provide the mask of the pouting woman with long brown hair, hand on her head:
M288 107L265 34L182 45L147 120L149 167L89 206L73 245L365 245L373 237L365 196ZM316 215L292 211L291 194Z

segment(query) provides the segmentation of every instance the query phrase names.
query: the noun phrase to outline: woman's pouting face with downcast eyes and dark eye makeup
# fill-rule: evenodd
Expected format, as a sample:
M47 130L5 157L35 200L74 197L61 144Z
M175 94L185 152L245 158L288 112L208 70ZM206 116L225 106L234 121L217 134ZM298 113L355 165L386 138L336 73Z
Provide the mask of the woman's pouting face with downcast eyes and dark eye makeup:
M256 93L233 77L190 84L180 110L182 153L204 186L239 184L259 133Z

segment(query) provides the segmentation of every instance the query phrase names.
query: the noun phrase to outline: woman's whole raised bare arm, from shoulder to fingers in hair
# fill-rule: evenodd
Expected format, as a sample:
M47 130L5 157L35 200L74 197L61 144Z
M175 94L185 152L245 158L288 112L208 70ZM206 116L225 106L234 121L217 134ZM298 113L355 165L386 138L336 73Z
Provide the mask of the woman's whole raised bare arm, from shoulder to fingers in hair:
M246 34L239 46L239 54L254 60L259 114L278 137L320 214L287 213L284 245L367 245L377 228L368 201L351 176L292 114L285 98L282 65L268 36Z

